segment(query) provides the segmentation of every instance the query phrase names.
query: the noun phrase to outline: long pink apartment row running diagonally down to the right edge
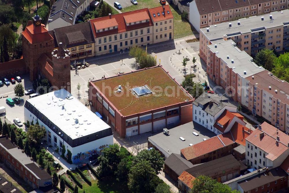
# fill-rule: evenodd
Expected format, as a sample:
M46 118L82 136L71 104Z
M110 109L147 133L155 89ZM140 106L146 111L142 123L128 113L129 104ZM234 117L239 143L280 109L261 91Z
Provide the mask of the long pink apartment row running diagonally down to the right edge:
M208 46L207 73L235 101L289 132L289 84L252 62L233 40Z

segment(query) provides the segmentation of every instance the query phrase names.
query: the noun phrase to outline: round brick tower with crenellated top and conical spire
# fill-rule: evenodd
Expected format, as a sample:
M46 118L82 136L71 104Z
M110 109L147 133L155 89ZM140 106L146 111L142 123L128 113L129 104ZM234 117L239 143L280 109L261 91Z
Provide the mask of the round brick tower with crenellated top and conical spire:
M58 49L51 53L53 62L53 86L57 89L64 88L71 92L70 88L70 52L64 50L62 42L59 42Z

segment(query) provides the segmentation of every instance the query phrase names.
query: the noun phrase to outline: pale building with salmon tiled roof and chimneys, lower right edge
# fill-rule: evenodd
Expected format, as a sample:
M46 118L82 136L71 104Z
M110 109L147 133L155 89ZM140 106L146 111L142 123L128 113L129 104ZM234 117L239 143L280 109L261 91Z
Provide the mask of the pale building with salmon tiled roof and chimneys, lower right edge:
M246 138L248 166L255 169L278 167L289 155L289 136L269 123L262 123Z

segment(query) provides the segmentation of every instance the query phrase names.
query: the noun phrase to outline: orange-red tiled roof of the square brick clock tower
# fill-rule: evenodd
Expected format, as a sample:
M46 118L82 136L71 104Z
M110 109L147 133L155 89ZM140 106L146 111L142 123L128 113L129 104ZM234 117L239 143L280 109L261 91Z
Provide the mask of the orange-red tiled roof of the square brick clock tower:
M44 42L53 40L52 36L48 33L48 30L43 24L35 26L32 22L28 22L22 35L31 43Z

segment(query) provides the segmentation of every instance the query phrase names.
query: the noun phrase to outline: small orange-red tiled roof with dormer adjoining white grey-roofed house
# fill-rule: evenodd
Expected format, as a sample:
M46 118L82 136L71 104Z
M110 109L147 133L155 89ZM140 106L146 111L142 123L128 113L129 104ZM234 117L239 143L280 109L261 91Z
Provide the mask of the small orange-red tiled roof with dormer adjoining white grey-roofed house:
M225 109L225 111L216 120L216 123L214 124L214 127L216 129L218 129L219 131L224 132L226 130L227 126L231 123L231 121L233 120L233 118L235 116L240 118L241 120L243 120L243 118L244 118L239 113L232 113L232 112L228 111L227 109ZM217 123L220 123L221 125L223 125L223 128L220 127L219 125L217 125Z

